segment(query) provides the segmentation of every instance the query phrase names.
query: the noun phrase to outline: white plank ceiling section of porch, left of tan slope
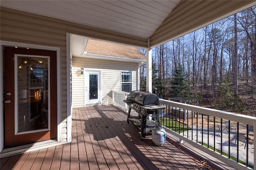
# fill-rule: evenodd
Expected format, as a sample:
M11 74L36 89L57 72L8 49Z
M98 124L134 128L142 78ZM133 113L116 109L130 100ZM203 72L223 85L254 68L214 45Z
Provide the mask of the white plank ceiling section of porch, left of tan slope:
M180 0L1 0L0 5L44 16L150 37Z

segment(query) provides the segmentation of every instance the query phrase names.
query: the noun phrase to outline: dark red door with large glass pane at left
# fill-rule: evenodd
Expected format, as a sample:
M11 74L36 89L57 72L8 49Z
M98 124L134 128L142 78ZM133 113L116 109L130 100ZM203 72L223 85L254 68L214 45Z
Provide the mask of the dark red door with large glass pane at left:
M4 47L4 146L57 138L56 51Z

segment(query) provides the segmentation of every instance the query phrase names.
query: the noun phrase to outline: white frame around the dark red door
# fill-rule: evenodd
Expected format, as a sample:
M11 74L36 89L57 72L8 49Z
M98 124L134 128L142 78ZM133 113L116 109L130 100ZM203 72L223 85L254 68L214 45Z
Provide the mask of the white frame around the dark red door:
M51 47L44 45L35 45L28 43L18 43L18 42L8 42L8 41L0 41L0 152L4 148L4 119L3 119L3 46L12 46L12 47L25 47L25 48L34 48L34 49L44 49L51 50L57 52L57 141L61 141L61 125L60 125L60 48L59 47Z

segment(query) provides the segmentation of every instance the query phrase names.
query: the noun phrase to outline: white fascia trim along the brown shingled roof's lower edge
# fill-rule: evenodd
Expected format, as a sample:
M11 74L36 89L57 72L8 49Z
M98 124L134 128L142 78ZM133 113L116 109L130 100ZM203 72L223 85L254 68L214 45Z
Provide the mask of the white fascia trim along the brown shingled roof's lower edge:
M110 59L110 60L120 60L120 61L129 61L129 62L145 62L145 59L133 59L133 58L125 58L125 57L117 57L117 56L111 56L111 55L102 55L102 54L94 54L94 53L84 53L82 56L78 57L88 57L88 58L96 58L96 59Z

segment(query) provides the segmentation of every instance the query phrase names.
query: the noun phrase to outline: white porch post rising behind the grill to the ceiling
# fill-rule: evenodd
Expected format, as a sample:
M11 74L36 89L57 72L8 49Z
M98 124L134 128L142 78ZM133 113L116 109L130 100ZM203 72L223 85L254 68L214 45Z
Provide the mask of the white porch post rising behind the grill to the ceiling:
M148 48L147 48L147 56L146 56L146 92L152 93L152 48L150 48L150 38L148 38Z

